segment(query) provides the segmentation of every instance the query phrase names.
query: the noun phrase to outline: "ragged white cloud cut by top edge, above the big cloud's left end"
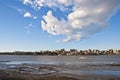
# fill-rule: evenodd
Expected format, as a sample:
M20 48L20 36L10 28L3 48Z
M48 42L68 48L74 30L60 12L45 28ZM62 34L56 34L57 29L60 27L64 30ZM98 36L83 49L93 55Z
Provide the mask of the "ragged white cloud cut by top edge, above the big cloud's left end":
M23 0L23 4L30 4L34 9L41 9L43 6L50 8L59 7L62 11L67 10L66 6L71 5L73 0Z

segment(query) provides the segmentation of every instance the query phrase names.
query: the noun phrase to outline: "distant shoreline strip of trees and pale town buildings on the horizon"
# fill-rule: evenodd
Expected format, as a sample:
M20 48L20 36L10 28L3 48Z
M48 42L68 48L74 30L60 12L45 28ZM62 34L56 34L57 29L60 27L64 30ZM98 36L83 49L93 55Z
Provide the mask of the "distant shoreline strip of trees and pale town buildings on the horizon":
M70 49L66 51L65 49L60 50L46 50L46 51L36 51L36 52L24 52L24 51L15 51L15 52L0 52L0 55L50 55L50 56L72 56L72 55L120 55L120 50L97 50L97 49L88 49L88 50L77 50Z

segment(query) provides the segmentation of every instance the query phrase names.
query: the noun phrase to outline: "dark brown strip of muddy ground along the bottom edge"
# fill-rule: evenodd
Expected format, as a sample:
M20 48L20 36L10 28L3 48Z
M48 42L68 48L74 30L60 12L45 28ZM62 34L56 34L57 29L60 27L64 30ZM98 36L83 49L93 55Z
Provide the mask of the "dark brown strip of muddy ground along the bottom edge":
M14 71L0 70L0 80L120 80L118 76L97 74L63 74L54 73L47 75L35 75L18 73Z

